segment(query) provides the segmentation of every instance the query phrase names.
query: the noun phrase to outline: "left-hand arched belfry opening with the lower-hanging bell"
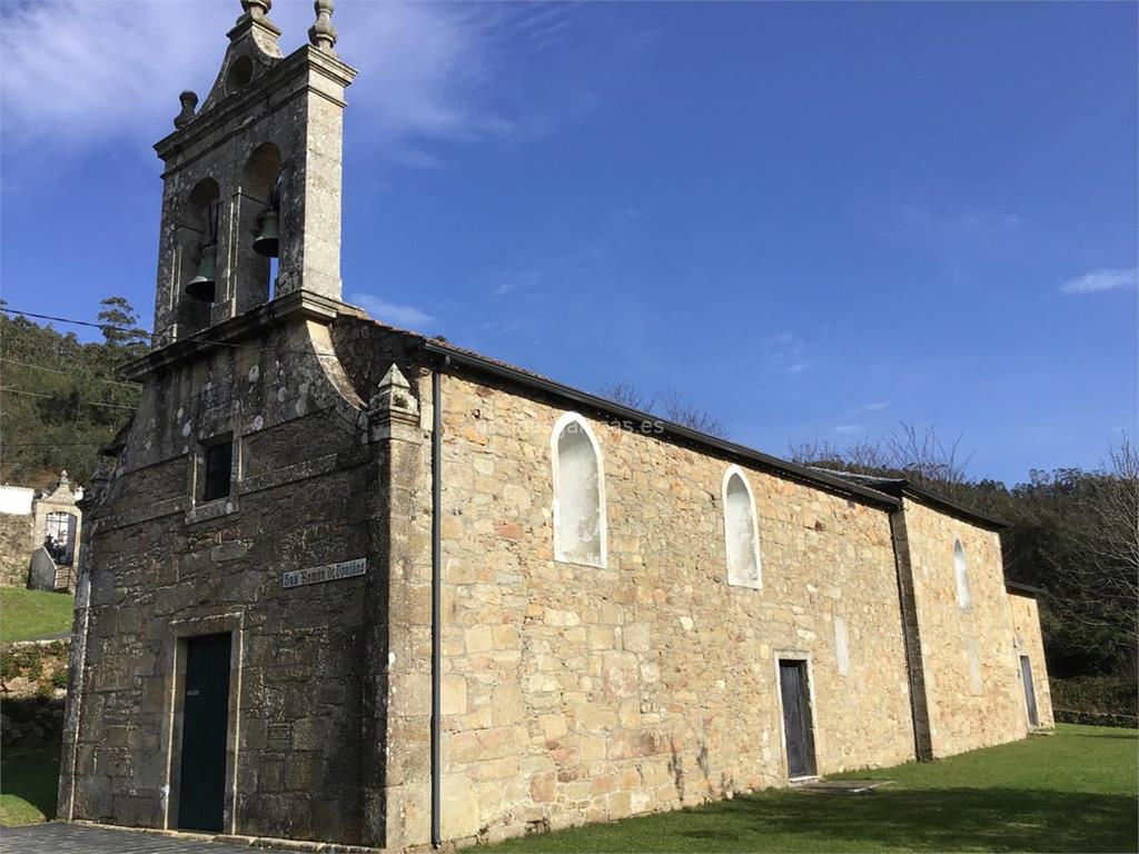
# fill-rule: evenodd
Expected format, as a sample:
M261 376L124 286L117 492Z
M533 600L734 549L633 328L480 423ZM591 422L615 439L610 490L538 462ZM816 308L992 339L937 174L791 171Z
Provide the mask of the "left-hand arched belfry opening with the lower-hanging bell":
M210 306L218 298L218 232L221 189L212 178L195 184L177 223L175 274L178 323L196 331L210 325Z

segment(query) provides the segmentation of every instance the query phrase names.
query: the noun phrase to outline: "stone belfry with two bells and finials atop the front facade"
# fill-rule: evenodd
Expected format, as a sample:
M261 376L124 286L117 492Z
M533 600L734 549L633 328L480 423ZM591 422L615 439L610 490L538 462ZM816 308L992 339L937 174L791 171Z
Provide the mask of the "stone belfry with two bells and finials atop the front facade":
M344 90L355 69L336 56L333 0L313 6L310 43L286 57L272 0L241 0L202 108L182 92L174 132L155 146L165 164L156 347L296 290L341 299Z

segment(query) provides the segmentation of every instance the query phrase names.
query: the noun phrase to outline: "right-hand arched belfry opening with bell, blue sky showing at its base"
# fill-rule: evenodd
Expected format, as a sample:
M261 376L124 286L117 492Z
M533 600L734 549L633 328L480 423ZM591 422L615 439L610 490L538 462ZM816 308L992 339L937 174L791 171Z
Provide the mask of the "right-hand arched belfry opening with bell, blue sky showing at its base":
M264 142L253 150L241 171L232 248L238 312L268 302L277 278L282 227L281 170L280 149Z

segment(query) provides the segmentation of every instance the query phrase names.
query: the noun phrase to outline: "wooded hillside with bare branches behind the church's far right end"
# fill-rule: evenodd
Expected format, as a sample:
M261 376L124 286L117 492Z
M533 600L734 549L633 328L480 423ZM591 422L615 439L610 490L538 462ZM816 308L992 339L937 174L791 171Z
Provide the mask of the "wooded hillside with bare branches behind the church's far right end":
M1139 667L1139 451L1126 437L1093 470L1033 470L1007 487L967 475L960 440L902 425L845 447L804 443L796 462L907 477L1011 526L1001 535L1009 581L1041 588L1052 703L1065 720L1136 724ZM1063 714L1064 711L1074 714Z

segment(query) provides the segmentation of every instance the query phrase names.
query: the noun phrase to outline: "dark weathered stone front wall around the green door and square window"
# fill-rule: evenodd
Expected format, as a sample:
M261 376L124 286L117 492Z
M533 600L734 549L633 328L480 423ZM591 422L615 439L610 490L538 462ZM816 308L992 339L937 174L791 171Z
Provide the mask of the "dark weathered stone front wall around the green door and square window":
M343 378L308 355L322 335L294 325L144 387L116 479L85 519L64 818L178 827L179 644L231 632L224 830L361 841L364 774L377 773L362 732L379 713L363 696L377 666L367 626L386 607L378 475ZM197 444L226 432L239 476L200 504ZM366 576L282 586L286 570L360 557Z

